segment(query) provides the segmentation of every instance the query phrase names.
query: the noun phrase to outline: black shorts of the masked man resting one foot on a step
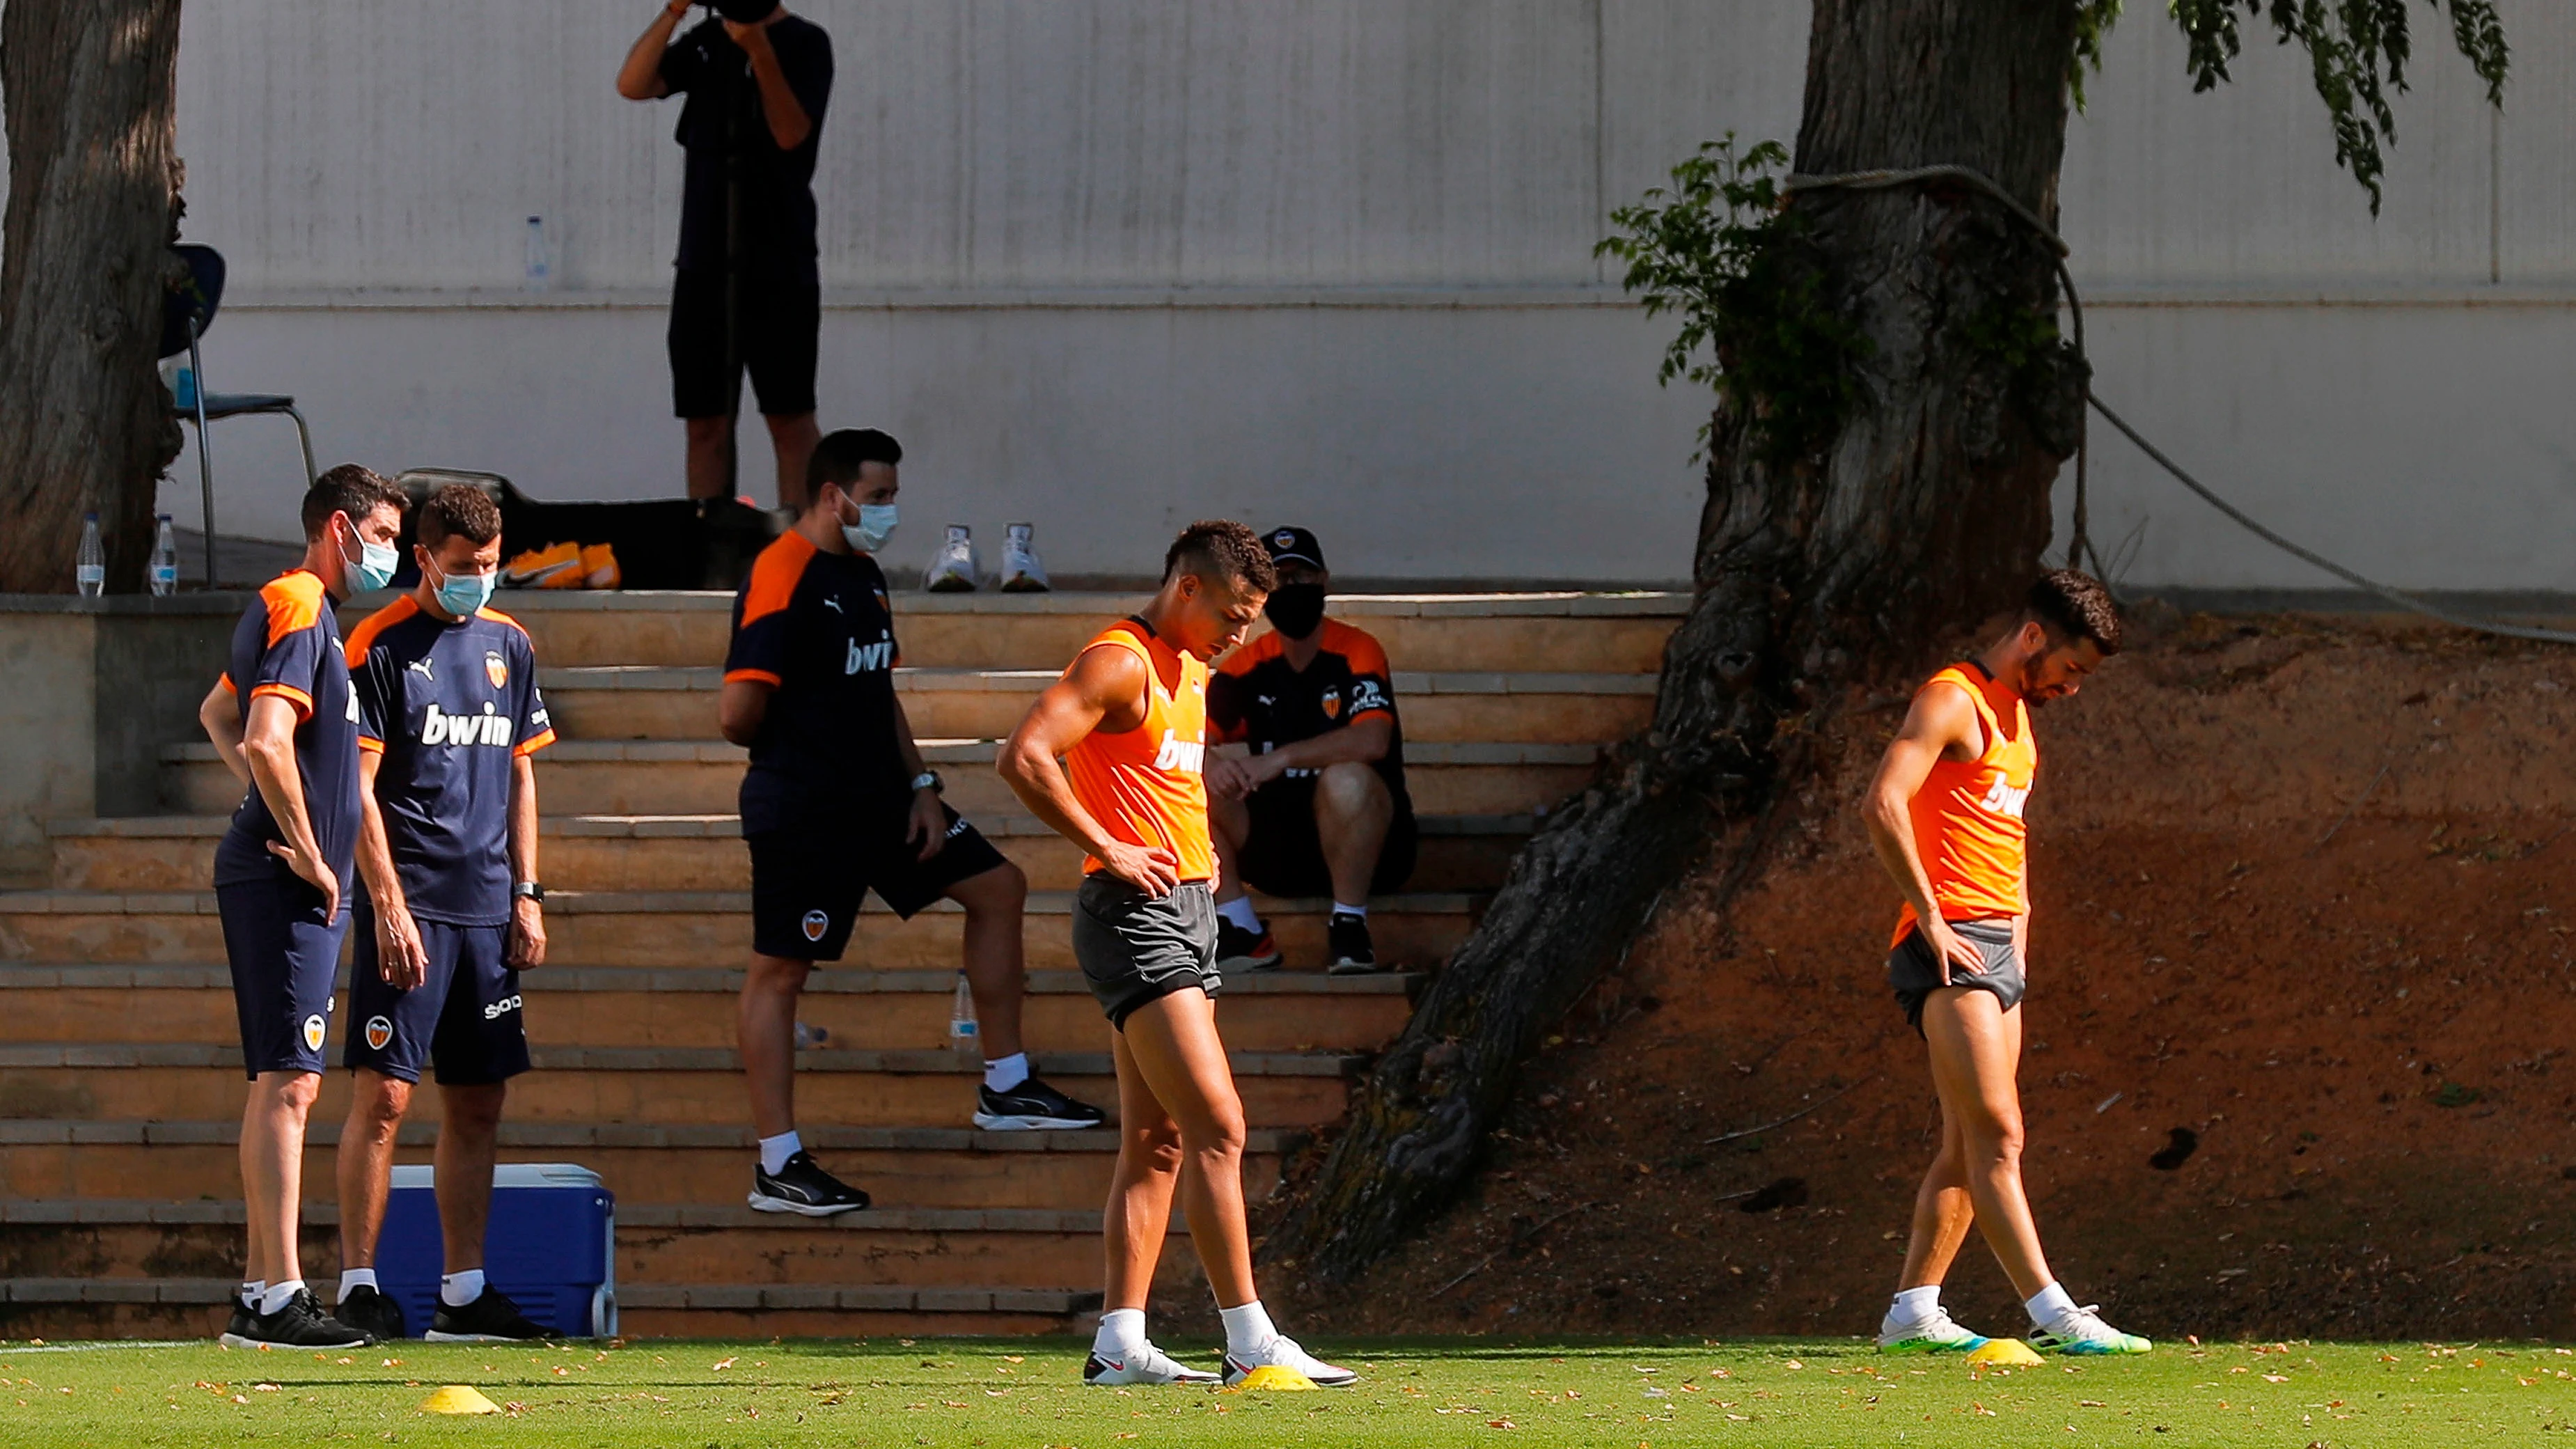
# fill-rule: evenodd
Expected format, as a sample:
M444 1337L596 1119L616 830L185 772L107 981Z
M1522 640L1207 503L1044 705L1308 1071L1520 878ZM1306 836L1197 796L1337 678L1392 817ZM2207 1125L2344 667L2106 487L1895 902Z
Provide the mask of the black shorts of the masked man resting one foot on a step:
M909 807L909 797L907 797ZM948 815L938 856L904 841L907 807L871 812L866 822L762 830L752 846L752 951L788 962L837 962L871 890L912 920L948 887L1002 861L981 830Z

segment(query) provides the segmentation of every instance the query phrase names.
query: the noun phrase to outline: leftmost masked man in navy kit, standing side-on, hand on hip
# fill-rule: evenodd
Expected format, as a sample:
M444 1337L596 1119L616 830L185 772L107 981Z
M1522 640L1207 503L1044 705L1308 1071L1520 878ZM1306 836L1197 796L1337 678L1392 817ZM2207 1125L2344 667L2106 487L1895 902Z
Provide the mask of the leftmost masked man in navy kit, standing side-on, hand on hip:
M358 464L304 492L304 562L260 588L232 632L232 663L196 717L247 786L214 848L232 1000L242 1021L242 1204L250 1271L224 1343L371 1343L304 1287L296 1207L304 1122L322 1088L332 977L358 846L358 696L332 606L394 575L402 492Z

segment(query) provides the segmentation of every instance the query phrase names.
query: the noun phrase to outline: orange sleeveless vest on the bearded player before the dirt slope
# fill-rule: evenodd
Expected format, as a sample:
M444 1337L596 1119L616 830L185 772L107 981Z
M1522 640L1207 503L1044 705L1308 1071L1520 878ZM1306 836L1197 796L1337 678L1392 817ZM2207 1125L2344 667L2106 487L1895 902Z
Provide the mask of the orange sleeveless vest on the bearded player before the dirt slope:
M2030 779L2040 768L2040 743L2030 737L2030 709L2022 696L1986 678L1978 665L1950 665L1922 688L1950 683L1968 691L1986 753L1973 761L1935 761L1924 786L1914 792L1914 853L1932 879L1932 902L1942 920L1986 920L2022 915L2030 900L2022 877L2030 830L2022 807ZM1922 696L1922 688L1914 694ZM2004 724L2009 709L2009 727ZM1896 941L1914 931L1914 905L1896 918ZM1893 941L1891 941L1893 944Z

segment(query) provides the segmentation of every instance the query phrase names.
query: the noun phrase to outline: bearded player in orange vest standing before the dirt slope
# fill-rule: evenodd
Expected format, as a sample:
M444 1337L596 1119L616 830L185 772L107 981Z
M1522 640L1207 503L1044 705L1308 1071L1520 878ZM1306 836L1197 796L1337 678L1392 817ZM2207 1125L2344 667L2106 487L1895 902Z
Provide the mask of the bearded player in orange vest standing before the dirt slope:
M2012 632L1924 681L1862 802L1870 846L1904 908L1888 985L1922 1031L1942 1140L1914 1196L1883 1351L1963 1354L1986 1338L1940 1307L1940 1281L1984 1230L2030 1310L2030 1343L2056 1354L2146 1354L2058 1287L2022 1191L2022 985L2030 864L2022 807L2040 768L2030 709L2066 699L2120 650L2110 593L2074 570L2030 585Z

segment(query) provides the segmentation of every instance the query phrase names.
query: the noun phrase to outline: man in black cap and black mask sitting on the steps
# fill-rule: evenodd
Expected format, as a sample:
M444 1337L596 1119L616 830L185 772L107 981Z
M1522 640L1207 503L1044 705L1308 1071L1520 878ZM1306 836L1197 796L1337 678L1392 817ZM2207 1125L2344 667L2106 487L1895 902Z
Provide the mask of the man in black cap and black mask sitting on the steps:
M1208 681L1208 722L1252 745L1208 755L1208 820L1224 866L1216 887L1218 967L1270 969L1280 951L1244 887L1332 895L1324 967L1378 969L1368 897L1414 874L1414 802L1404 789L1404 724L1394 670L1373 637L1324 619L1332 570L1306 529L1262 534L1280 585L1270 632L1226 655Z

